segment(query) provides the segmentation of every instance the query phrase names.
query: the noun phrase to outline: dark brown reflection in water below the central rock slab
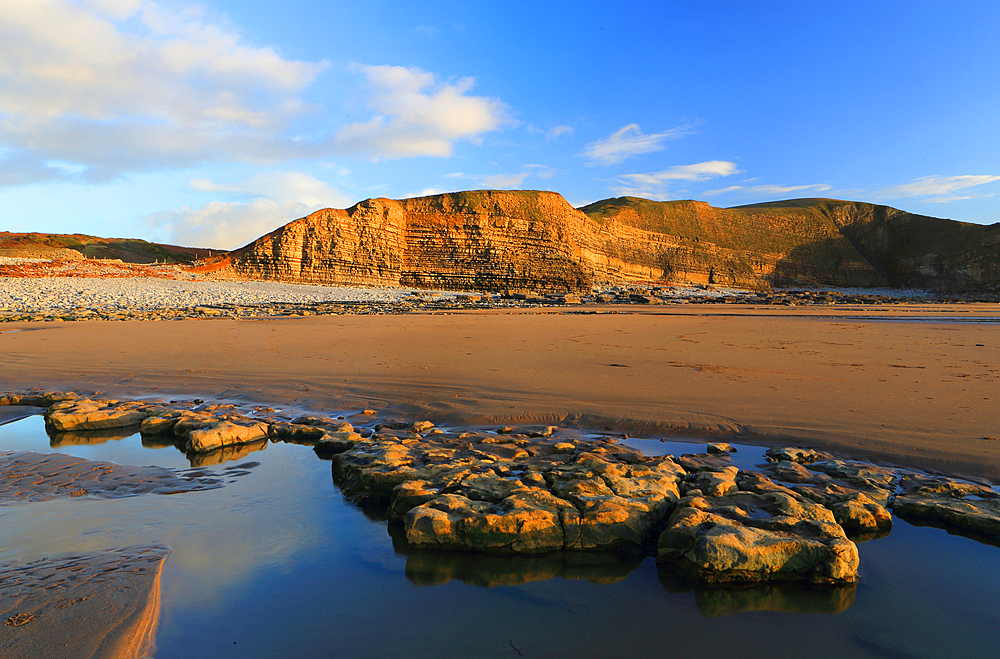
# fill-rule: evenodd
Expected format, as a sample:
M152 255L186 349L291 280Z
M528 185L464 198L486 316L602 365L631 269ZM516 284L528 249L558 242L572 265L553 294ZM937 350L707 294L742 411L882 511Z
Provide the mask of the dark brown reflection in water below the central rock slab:
M497 556L413 551L406 557L406 578L418 586L439 586L456 579L485 588L519 586L556 577L613 584L625 579L642 561L642 556L575 552L556 552L546 556Z

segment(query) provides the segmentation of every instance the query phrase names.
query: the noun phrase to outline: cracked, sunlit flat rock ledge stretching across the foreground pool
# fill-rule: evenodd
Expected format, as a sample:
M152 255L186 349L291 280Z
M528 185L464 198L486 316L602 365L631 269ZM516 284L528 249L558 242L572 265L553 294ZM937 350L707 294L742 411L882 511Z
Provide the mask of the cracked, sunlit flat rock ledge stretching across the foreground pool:
M1000 543L1000 493L987 485L797 447L769 449L766 463L746 469L733 464L732 447L647 456L616 437L555 426L462 431L359 410L355 427L270 408L61 392L8 394L0 404L46 408L58 436L131 428L144 442L173 442L193 464L269 442L312 446L331 460L344 495L382 511L414 556L655 554L695 582L831 586L857 579L855 543L888 533L893 510Z

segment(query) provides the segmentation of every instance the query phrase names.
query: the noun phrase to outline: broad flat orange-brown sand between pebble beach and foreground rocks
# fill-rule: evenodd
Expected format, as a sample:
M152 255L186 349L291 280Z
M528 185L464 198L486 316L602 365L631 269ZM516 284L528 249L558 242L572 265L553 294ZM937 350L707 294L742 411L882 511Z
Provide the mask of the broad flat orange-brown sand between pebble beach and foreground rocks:
M996 304L6 323L0 355L0 390L741 435L1000 477Z

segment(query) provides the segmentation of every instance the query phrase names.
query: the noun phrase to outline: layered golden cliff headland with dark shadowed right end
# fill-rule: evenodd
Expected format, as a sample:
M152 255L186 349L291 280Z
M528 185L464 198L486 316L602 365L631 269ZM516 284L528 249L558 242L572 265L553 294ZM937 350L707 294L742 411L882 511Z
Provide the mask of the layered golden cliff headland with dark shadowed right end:
M992 290L998 245L996 225L857 202L720 209L622 197L574 209L554 192L473 191L317 211L230 253L226 269L248 279L482 291L629 282Z

